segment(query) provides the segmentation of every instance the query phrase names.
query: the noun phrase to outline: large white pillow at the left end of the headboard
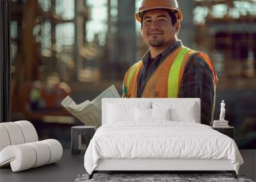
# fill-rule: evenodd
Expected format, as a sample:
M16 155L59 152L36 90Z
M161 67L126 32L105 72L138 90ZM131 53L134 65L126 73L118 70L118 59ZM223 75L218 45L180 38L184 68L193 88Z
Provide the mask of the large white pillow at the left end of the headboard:
M134 121L135 113L134 107L124 106L124 105L113 105L108 104L108 122L118 122L118 121Z

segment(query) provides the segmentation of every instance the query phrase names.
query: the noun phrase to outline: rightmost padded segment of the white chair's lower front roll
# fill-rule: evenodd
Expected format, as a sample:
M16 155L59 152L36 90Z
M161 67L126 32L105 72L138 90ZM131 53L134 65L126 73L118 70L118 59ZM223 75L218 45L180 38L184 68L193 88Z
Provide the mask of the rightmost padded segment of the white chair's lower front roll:
M63 149L58 140L47 139L47 140L42 140L41 142L45 142L45 144L47 144L50 149L50 159L47 162L47 164L56 162L61 159L63 154Z

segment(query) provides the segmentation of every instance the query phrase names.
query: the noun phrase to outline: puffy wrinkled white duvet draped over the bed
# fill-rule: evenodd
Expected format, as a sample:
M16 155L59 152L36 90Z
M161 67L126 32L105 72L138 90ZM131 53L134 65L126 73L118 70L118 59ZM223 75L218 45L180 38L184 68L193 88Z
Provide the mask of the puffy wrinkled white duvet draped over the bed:
M230 137L207 125L178 121L100 126L84 155L86 171L92 174L99 159L106 158L229 159L237 174L243 164Z

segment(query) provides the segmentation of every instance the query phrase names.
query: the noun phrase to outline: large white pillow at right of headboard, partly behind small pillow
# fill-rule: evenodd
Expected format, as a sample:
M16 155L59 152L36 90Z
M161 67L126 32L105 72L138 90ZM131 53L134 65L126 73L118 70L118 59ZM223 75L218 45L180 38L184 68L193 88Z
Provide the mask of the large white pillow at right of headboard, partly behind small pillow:
M171 109L172 121L196 122L198 119L198 110L196 103L168 103L168 102L153 102L154 109Z

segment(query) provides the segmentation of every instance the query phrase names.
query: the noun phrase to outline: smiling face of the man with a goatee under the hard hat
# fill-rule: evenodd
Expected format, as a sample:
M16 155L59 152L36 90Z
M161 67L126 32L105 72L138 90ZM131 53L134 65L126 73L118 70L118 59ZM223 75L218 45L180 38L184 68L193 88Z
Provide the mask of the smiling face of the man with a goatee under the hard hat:
M142 21L141 34L149 46L166 47L176 41L177 30L167 10L148 10Z

